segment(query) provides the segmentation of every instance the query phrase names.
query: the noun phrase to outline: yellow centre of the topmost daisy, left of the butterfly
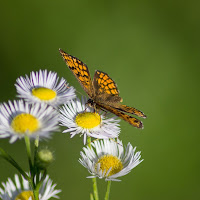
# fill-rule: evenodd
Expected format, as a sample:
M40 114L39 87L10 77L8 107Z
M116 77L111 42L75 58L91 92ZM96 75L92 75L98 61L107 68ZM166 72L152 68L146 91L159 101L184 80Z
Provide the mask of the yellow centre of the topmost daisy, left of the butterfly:
M49 101L56 98L56 92L45 87L33 88L32 95L43 101Z

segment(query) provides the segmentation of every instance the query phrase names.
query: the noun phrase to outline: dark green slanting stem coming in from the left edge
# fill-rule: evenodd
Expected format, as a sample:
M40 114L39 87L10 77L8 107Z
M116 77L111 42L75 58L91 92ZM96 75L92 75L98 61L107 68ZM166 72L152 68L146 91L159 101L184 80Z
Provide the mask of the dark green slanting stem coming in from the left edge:
M30 178L27 176L25 171L18 165L18 163L8 154L6 153L2 148L0 148L0 156L7 160L13 167L15 167L20 174L27 180L30 181Z

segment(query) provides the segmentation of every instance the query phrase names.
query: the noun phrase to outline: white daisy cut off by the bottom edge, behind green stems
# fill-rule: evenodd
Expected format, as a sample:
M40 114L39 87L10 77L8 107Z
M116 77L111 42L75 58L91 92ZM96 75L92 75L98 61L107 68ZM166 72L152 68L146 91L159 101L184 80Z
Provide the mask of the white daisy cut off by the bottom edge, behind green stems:
M8 181L2 183L2 186L3 187L0 188L0 198L2 200L34 200L33 192L28 181L23 177L20 181L17 174L15 174L14 182L8 178ZM59 199L57 194L60 193L61 190L56 190L55 187L56 184L53 184L53 181L47 175L39 190L39 200L47 200L52 197Z

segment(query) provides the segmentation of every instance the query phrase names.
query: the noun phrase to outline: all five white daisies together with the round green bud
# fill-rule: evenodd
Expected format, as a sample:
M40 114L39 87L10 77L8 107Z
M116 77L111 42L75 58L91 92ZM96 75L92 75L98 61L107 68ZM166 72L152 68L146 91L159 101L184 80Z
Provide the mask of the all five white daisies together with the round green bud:
M98 139L90 140L80 152L79 162L91 174L89 178L119 181L118 177L128 174L143 161L141 152L136 152L130 143L123 146L117 139L120 120L103 111L95 112L88 106L88 99L79 99L74 87L69 86L64 78L59 79L57 73L47 70L31 72L30 76L19 77L15 86L19 99L0 104L0 139L9 138L10 143L18 139L34 140L36 162L30 165L30 173L22 174L21 178L15 175L14 182L8 178L6 183L2 183L1 199L33 200L33 186L41 182L40 200L58 198L60 190L55 189L56 184L46 175L53 154L48 149L38 150L38 146L39 140L51 138L53 132L59 131L59 125L71 138L83 136L84 145L88 138ZM0 155L3 155L1 152L4 151L0 149ZM16 168L19 170L18 166ZM37 173L31 171L33 168ZM26 176L31 176L32 185Z

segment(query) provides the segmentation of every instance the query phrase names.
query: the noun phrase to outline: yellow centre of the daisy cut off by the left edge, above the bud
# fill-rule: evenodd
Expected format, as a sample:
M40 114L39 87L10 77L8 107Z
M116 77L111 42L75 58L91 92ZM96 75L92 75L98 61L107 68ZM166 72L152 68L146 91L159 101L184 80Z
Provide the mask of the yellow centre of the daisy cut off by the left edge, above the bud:
M39 121L33 115L28 113L21 113L14 117L11 122L11 127L17 133L35 132L39 129Z

